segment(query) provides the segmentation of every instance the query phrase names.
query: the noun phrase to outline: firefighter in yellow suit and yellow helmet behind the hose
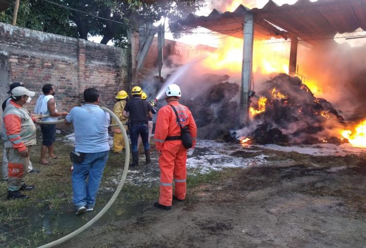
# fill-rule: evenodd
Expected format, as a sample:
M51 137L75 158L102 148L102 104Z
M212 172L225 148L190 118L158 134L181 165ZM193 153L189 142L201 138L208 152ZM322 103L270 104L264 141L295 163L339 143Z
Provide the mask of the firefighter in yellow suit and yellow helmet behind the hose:
M113 113L120 119L123 124L124 129L127 131L126 122L128 120L127 117L123 116L123 110L127 103L128 94L126 91L121 90L117 93L116 96L116 104L113 108ZM117 122L113 119L112 125L116 125ZM122 135L122 131L119 127L113 127L113 152L114 153L121 153L124 147L124 139Z

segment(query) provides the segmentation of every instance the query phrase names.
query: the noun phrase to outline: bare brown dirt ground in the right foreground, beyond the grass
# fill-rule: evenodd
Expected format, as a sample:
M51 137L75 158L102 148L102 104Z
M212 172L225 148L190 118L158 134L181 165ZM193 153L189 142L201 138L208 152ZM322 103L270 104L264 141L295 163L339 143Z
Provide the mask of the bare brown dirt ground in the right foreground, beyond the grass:
M224 170L171 211L151 201L59 247L366 247L366 160L296 154Z

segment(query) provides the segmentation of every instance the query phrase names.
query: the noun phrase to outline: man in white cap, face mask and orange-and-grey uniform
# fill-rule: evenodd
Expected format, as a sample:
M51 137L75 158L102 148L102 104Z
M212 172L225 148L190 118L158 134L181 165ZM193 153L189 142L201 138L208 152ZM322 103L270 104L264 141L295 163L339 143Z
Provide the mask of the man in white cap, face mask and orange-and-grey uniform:
M36 128L25 104L35 96L23 86L11 91L11 100L6 106L3 116L1 138L4 140L6 157L8 158L8 196L7 199L28 198L21 190L33 190L34 186L22 184L28 172L31 147L36 144Z

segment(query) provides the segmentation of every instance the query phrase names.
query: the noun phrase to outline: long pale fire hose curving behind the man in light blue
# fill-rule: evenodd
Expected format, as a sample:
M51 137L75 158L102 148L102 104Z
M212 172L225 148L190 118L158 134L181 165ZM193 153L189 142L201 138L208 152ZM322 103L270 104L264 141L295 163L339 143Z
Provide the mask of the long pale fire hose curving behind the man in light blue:
M120 127L122 134L123 134L123 139L124 139L124 144L125 144L125 151L126 151L126 156L124 159L124 168L123 168L123 173L122 173L122 178L120 183L118 184L118 187L116 189L116 191L114 192L113 196L110 198L110 200L107 202L107 204L105 205L105 207L101 210L101 212L98 213L98 215L95 215L94 218L92 218L91 220L89 220L84 226L80 227L79 229L71 232L70 234L57 239L51 243L48 243L46 245L40 246L38 248L50 248L50 247L54 247L56 245L59 245L61 243L64 243L66 241L68 241L69 239L75 237L76 235L78 235L79 233L87 230L87 228L89 228L91 225L94 224L94 222L96 222L97 220L99 220L107 211L108 209L112 206L113 202L116 200L116 198L118 197L118 195L120 194L124 181L126 180L127 177L127 173L128 173L128 165L130 162L130 146L128 145L128 137L127 137L127 133L126 130L123 127L122 122L118 119L118 117L109 109L107 108L103 108L101 107L101 109L103 109L105 112L107 112L110 116L112 116L112 118L117 122L117 125L110 125L110 126L118 126ZM64 120L57 120L57 121L39 121L38 124L40 125L44 125L44 124L57 124L57 123L63 123Z

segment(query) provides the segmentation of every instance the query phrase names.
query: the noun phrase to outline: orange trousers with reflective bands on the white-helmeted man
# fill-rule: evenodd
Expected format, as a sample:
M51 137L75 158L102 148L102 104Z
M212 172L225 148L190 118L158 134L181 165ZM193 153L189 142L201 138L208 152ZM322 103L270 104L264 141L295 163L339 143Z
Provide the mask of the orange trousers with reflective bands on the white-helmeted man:
M182 141L165 141L159 157L160 168L160 196L159 203L172 206L173 178L175 181L174 196L178 199L186 198L187 188L187 149Z

